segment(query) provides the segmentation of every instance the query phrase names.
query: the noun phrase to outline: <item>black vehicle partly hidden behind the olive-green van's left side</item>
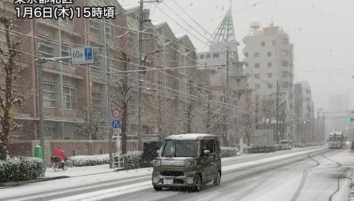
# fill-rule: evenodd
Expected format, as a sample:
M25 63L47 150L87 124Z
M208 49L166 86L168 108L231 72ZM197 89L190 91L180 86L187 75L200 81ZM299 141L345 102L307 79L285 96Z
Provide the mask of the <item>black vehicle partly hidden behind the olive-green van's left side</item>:
M152 160L158 156L157 152L162 145L162 140L144 142L143 145L143 166L152 167Z

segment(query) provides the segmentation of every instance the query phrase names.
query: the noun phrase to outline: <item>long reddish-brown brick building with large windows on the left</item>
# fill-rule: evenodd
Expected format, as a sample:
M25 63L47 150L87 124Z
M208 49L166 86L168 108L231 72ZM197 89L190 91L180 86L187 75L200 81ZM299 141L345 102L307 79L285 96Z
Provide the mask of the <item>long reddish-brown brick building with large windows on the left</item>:
M77 123L81 121L78 111L97 109L102 111L105 118L107 111L107 69L113 72L121 69L121 62L115 52L124 50L132 56L129 64L131 69L139 69L138 34L135 31L127 31L122 27L138 29L137 6L122 6L117 0L82 0L74 1L73 6L116 6L116 18L85 19L74 18L73 20L62 19L59 21L50 19L19 20L15 30L21 32L19 37L25 37L23 41L24 54L19 60L26 65L22 76L17 80L18 86L24 94L29 94L24 105L15 108L15 121L23 127L13 133L14 140L39 139L39 100L38 100L38 66L35 58L69 56L71 48L93 47L95 62L90 65L72 65L70 60L59 62L47 62L43 64L43 111L44 111L44 135L45 139L81 139L78 134ZM1 9L15 11L13 2L1 2ZM169 28L169 25L154 25L149 21L148 10L145 10L143 34L143 57L158 49L164 51L150 54L146 59L146 66L150 68L178 67L192 65L196 60L195 48L187 36L177 38ZM21 28L20 28L21 27ZM1 37L4 31L2 30ZM151 33L151 34L148 34ZM120 36L120 37L118 37ZM155 37L157 36L157 37ZM158 40L156 40L158 38ZM3 40L3 38L2 38ZM3 47L3 43L2 46ZM183 49L183 53L179 50ZM181 58L187 54L190 59ZM153 72L143 75L143 86L148 88L154 83ZM189 71L184 74L179 70L166 71L166 88L179 90L185 85L185 79ZM132 75L134 92L138 91L138 74ZM177 78L175 78L177 77ZM112 76L116 80L117 75ZM111 85L117 84L112 81ZM147 99L148 90L143 90L143 134L154 134L153 125L148 121L149 108ZM135 96L129 105L128 140L136 140L138 134L137 107L138 100ZM176 100L173 107L177 107L177 99L180 94L174 93L171 100ZM129 138L129 136L131 136Z

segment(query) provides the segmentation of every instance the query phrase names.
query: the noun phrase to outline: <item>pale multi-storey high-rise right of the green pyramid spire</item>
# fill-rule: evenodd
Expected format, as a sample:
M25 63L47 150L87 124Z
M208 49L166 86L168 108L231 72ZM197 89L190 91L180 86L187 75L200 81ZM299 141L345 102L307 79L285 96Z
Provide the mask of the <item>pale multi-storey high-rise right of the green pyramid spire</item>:
M278 82L279 107L285 113L279 115L287 121L286 133L293 133L294 44L282 28L271 24L261 30L259 23L251 23L250 34L243 38L243 43L243 61L253 75L247 79L250 88L255 94L276 100Z

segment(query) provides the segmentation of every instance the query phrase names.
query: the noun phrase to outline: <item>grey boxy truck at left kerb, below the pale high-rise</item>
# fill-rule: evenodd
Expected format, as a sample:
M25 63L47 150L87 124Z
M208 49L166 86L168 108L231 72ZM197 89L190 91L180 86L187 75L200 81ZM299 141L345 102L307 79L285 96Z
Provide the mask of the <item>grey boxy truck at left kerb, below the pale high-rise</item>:
M274 152L277 150L274 143L274 134L271 129L255 130L252 133L251 153Z

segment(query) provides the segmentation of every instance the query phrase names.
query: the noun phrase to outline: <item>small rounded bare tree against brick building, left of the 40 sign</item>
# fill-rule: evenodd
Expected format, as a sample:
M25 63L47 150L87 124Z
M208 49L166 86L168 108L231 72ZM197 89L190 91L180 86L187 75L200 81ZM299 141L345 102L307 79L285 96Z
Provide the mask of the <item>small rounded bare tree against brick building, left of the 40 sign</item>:
M82 122L78 123L80 138L101 140L107 133L107 120L104 115L94 109L79 111Z

